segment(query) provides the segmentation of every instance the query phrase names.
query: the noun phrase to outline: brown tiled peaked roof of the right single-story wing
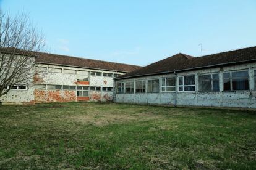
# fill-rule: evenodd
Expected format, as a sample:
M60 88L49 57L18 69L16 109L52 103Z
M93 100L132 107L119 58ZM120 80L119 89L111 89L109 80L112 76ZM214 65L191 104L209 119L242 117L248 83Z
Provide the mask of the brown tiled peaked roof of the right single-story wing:
M216 67L217 65L221 66L241 62L252 62L252 60L256 61L256 47L205 55L203 57L192 57L190 55L179 53L147 65L146 67L134 70L116 79L132 78L143 75L158 75L161 73Z

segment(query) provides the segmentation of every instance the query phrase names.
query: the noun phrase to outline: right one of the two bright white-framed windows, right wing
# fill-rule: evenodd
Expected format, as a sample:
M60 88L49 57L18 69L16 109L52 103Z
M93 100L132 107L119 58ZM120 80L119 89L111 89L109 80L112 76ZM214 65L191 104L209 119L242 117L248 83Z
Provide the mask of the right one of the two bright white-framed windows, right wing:
M195 75L179 76L179 91L195 91Z

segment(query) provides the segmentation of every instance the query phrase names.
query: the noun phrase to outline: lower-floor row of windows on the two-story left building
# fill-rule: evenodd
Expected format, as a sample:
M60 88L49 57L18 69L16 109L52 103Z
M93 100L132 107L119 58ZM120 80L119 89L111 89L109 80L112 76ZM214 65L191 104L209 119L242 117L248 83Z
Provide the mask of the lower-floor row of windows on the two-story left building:
M46 85L45 84L35 84L35 89L40 89L40 90L46 90ZM48 90L69 90L69 91L75 91L75 90L89 90L89 86L66 86L66 85L47 85ZM113 91L113 87L96 87L96 86L90 86L91 91Z

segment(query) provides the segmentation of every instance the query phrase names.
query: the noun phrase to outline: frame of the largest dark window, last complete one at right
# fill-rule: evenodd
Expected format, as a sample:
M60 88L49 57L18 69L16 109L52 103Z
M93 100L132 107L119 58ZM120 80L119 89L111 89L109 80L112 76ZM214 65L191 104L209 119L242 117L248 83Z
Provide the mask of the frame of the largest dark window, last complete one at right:
M243 71L247 71L247 80L248 80L248 89L245 90L234 90L233 89L233 76L232 73L236 73L236 72L243 72ZM224 73L229 73L229 78L224 78ZM235 78L245 78L245 77L234 77ZM229 86L230 86L230 90L224 90L224 79L229 79ZM250 91L250 76L249 76L249 70L233 70L233 71L224 71L223 72L223 92L233 92L233 91Z

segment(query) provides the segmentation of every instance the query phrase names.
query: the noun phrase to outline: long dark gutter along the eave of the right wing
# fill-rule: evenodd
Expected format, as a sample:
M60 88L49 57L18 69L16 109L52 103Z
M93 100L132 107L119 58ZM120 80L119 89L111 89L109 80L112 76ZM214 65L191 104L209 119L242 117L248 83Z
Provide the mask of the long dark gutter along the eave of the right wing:
M136 77L142 77L142 76L151 76L151 75L163 75L163 74L168 74L168 73L177 73L177 72L182 72L182 71L198 70L198 69L202 69L202 68L211 68L211 67L218 67L218 66L224 66L224 65L236 65L236 63L248 63L248 62L254 62L254 61L256 61L256 59L244 60L242 62L232 62L232 63L229 62L229 63L221 63L221 64L216 64L216 65L202 66L202 67L186 68L186 69L182 69L182 70L164 71L164 72L160 72L160 73L148 73L148 74L143 74L143 75L127 76L124 78L114 78L114 80L136 78Z

